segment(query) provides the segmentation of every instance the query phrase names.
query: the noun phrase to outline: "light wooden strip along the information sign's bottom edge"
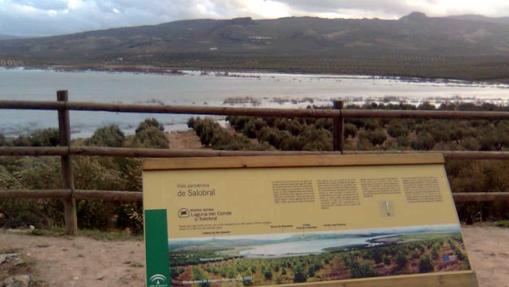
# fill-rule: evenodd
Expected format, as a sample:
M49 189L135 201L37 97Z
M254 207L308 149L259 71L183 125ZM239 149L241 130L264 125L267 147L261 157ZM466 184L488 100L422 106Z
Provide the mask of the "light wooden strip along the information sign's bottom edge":
M329 282L282 284L274 286L320 287L478 287L473 271L412 274Z

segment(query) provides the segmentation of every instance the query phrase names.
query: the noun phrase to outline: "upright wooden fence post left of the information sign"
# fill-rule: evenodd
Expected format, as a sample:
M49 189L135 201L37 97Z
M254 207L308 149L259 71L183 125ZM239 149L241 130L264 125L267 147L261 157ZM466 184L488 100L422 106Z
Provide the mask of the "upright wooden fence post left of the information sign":
M57 91L57 101L67 102L69 96L67 91ZM69 122L69 110L67 107L58 110L58 131L60 146L71 147L71 125ZM69 197L63 199L65 233L76 235L78 232L78 218L76 211L76 199L74 198L74 176L72 173L71 155L66 154L60 157L62 167L62 180L64 188L70 190Z

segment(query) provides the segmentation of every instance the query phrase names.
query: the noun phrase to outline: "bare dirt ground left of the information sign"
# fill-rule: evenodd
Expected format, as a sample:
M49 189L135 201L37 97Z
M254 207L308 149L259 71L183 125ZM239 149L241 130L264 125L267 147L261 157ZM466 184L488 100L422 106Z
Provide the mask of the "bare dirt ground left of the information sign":
M34 262L36 279L48 286L143 286L142 241L98 241L91 238L0 233L0 250L15 249ZM0 266L1 268L1 266Z

